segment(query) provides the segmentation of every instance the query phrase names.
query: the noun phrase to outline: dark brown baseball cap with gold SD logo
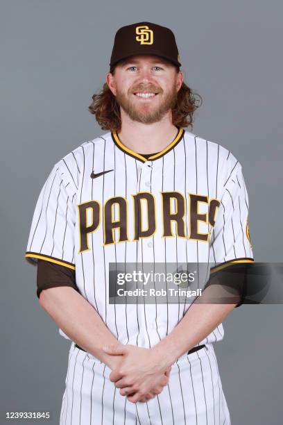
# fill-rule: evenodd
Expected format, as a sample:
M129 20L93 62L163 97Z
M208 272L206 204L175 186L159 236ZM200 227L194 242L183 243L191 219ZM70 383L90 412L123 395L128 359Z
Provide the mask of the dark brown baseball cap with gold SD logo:
M119 28L114 38L110 69L119 60L134 55L160 56L177 67L181 66L175 35L166 26L152 22L138 22Z

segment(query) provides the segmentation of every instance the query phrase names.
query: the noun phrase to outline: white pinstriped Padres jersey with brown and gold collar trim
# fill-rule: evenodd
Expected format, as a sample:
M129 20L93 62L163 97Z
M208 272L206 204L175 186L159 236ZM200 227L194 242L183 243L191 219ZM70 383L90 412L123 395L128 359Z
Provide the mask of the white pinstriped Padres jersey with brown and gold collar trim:
M92 178L93 171L105 173ZM183 128L148 160L125 147L117 133L83 142L46 179L25 256L33 265L42 258L75 269L80 294L117 339L153 347L189 305L110 304L108 264L252 260L241 165L225 147ZM223 334L220 324L199 344Z

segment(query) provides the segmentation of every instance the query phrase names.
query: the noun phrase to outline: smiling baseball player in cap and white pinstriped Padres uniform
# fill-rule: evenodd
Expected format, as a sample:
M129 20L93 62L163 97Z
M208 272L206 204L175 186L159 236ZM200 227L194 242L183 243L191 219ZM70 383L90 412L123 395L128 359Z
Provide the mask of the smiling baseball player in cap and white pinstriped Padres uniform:
M60 425L229 425L214 343L239 303L111 303L110 263L251 263L237 158L191 133L196 99L169 28L117 31L89 107L107 132L58 160L25 257L71 340Z

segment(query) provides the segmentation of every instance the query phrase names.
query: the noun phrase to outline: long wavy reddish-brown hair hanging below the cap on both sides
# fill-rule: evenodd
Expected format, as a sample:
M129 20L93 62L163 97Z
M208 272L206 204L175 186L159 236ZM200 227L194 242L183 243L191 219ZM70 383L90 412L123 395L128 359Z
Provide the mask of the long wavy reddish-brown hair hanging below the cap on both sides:
M175 67L176 72L179 71ZM115 68L110 69L114 75ZM182 82L178 91L175 106L172 108L172 122L177 127L193 127L194 112L203 103L200 94L194 92L187 84ZM111 92L107 83L103 84L100 92L92 96L92 103L89 105L89 112L96 117L96 121L102 130L117 131L121 130L120 106L116 97Z

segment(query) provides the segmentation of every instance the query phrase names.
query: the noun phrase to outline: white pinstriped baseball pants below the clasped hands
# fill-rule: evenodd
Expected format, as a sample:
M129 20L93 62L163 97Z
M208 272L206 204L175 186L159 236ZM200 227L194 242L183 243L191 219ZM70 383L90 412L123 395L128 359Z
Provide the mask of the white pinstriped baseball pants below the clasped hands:
M181 356L163 391L130 403L109 380L110 369L71 344L60 425L230 425L212 343Z

